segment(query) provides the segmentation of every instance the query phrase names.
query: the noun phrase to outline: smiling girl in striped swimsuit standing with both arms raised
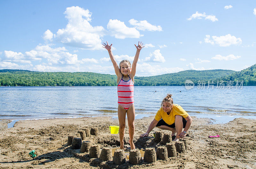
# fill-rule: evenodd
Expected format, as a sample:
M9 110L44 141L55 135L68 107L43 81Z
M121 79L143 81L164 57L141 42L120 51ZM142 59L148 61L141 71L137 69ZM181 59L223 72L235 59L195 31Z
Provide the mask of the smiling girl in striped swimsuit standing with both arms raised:
M109 57L113 63L116 76L117 76L117 95L118 95L118 120L119 120L119 138L120 138L120 149L124 150L124 128L125 128L125 115L127 114L128 126L129 126L129 143L131 150L135 149L133 143L134 135L134 119L135 119L135 108L133 100L133 87L134 87L134 76L136 72L136 65L139 59L140 50L144 47L142 42L138 43L134 60L131 63L128 60L123 60L118 64L111 51L111 45L104 43L102 44L108 50ZM143 46L143 47L142 47Z

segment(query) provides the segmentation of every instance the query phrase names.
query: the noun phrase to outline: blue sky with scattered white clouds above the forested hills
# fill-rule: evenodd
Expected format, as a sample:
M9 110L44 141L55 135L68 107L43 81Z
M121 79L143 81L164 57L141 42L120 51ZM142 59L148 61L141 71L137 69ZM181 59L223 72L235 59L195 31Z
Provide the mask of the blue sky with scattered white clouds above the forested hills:
M182 70L243 70L256 63L256 1L0 1L0 69L136 76Z

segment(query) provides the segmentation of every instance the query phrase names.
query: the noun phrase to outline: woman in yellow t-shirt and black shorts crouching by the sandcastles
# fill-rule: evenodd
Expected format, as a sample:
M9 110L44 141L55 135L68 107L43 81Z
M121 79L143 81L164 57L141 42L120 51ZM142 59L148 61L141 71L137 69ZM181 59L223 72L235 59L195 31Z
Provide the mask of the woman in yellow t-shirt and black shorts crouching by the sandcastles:
M188 113L178 104L173 104L172 95L167 94L163 99L161 108L157 111L154 120L148 126L146 133L141 134L140 137L148 136L150 131L155 127L164 130L172 131L172 136L176 134L173 141L184 138L192 123L192 118ZM182 131L182 129L184 130Z

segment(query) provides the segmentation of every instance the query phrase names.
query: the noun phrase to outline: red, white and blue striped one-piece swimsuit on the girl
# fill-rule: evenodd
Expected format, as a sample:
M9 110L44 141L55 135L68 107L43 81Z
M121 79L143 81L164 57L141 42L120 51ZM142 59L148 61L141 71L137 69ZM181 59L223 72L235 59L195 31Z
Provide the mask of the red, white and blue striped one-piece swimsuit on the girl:
M125 110L128 110L134 103L133 89L134 85L131 78L128 81L124 81L122 77L117 85L118 104L124 107Z

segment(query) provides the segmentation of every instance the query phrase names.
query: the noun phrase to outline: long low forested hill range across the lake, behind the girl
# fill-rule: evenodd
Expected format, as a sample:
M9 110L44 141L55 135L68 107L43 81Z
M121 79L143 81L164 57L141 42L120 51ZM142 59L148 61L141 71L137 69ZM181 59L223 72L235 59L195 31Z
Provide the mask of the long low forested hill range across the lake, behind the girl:
M185 70L150 77L135 77L135 85L184 85L187 79L215 80L233 74L234 70ZM2 86L115 86L116 75L92 72L36 72L29 70L0 70Z

